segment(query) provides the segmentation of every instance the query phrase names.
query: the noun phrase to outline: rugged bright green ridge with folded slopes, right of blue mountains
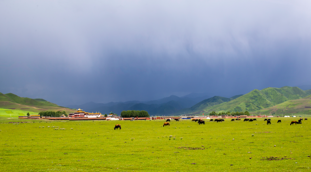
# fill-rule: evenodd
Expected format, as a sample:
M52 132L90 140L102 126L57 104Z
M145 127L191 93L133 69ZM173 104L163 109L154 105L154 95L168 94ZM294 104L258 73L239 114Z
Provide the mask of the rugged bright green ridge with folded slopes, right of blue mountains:
M253 90L229 102L210 106L202 110L193 112L194 114L216 112L256 112L260 109L269 108L281 104L288 100L301 99L310 95L310 93L301 90L298 87L285 86L282 88L268 87L262 90Z

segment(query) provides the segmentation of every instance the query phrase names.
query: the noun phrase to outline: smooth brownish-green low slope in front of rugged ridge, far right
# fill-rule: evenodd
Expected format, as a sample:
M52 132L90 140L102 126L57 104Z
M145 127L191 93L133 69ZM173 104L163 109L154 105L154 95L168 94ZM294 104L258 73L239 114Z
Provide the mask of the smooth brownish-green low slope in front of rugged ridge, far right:
M311 95L302 99L289 100L281 104L277 104L270 108L256 111L257 114L273 114L273 115L304 115L311 114Z

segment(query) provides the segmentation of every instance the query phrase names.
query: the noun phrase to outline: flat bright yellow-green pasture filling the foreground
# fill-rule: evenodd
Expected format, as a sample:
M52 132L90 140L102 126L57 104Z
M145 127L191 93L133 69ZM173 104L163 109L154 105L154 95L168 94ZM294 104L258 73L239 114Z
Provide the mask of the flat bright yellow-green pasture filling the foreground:
M310 124L298 119L0 123L0 171L308 171Z

